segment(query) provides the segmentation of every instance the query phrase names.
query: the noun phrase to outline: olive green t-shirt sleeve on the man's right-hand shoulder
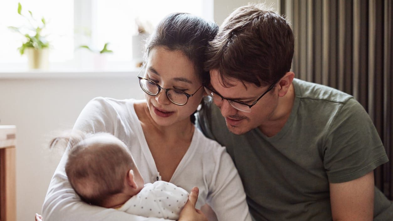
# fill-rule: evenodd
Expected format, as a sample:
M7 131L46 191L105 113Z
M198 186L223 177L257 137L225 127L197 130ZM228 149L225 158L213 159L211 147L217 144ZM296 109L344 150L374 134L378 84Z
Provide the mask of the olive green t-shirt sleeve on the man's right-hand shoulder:
M332 119L325 138L323 164L329 182L357 179L388 161L369 115L354 98Z

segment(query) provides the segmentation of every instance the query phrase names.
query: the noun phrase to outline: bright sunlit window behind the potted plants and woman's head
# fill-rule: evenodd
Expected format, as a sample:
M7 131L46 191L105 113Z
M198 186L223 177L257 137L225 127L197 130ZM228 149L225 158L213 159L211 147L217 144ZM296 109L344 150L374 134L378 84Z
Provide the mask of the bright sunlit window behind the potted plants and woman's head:
M149 22L152 27L167 14L188 12L213 20L213 0L7 0L0 2L0 71L27 70L26 55L20 56L17 48L24 37L13 33L7 26L27 24L18 15L18 2L22 14L47 21L50 40L50 67L53 70L130 70L135 68L132 57L132 36L137 34L136 19ZM106 42L113 53L103 56L92 53L81 45L101 50ZM103 63L106 63L106 65ZM17 64L17 65L16 65ZM97 65L99 64L99 65Z

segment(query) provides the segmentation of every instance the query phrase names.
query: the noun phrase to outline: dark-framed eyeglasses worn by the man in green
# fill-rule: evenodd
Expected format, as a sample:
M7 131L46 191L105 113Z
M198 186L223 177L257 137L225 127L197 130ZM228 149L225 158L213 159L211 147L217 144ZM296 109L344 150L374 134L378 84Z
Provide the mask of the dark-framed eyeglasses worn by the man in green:
M223 96L221 96L221 94L219 94L217 91L210 89L207 86L204 86L206 93L213 98L213 101L216 102L221 102L224 99L228 101L228 103L235 108L236 110L240 110L243 112L251 112L251 107L254 106L265 94L267 94L267 92L269 92L270 90L272 90L274 88L274 85L277 84L278 81L274 82L265 92L263 92L263 94L256 99L254 102L252 102L252 104L247 104L241 101L236 101L230 98L224 98Z

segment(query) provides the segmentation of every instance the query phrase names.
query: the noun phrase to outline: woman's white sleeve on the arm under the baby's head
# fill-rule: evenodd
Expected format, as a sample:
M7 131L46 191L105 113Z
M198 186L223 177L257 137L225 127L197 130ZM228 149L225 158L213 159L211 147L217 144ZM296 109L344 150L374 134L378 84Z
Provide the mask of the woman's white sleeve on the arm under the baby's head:
M116 112L105 98L95 98L90 101L79 115L74 130L84 132L113 133ZM46 221L163 221L154 217L141 217L127 214L114 209L92 206L84 203L75 193L65 173L67 150L64 153L55 174L53 175L45 201L42 215Z

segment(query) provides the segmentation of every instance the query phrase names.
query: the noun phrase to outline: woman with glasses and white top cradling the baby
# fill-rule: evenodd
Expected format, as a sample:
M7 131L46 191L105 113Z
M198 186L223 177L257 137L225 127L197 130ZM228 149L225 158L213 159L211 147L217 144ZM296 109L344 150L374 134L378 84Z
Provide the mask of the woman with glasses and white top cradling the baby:
M218 220L251 220L231 158L190 120L205 95L204 52L217 29L186 13L165 17L147 45L147 63L138 75L146 100L95 98L82 110L74 129L108 132L123 140L145 182L165 180L188 192L198 186L193 205L209 204ZM65 175L66 160L64 154L51 180L43 205L46 220L156 220L81 202ZM184 212L179 220L203 220L193 212Z

